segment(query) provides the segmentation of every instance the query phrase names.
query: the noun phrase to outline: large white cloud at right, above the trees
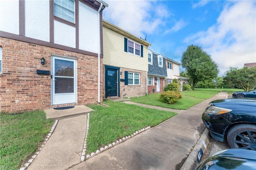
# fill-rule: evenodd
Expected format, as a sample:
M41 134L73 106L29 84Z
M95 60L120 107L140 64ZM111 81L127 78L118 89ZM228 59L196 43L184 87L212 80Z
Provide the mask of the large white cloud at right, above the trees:
M219 65L224 75L229 67L242 68L256 62L256 3L229 2L217 23L207 31L187 37L184 42L202 47Z

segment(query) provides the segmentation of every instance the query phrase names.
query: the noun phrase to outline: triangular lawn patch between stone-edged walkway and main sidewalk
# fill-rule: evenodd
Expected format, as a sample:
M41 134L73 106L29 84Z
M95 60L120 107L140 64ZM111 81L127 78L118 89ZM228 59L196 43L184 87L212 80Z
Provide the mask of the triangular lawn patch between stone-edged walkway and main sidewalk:
M104 104L109 107L88 106L95 110L90 114L86 150L88 153L144 127L156 126L177 114L110 100L106 100Z

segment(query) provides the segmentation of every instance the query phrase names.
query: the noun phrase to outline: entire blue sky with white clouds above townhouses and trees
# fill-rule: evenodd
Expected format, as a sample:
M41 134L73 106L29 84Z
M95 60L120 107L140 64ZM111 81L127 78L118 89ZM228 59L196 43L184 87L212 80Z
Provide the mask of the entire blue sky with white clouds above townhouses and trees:
M256 62L256 1L104 0L103 19L145 38L152 51L180 62L189 45L198 45L218 64ZM180 71L183 68L180 66Z

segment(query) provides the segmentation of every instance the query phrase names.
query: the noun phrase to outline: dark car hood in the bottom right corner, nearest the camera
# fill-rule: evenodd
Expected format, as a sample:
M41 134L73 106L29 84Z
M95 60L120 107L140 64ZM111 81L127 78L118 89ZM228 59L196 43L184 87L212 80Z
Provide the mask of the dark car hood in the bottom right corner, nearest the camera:
M216 152L195 170L256 170L256 151L227 149Z

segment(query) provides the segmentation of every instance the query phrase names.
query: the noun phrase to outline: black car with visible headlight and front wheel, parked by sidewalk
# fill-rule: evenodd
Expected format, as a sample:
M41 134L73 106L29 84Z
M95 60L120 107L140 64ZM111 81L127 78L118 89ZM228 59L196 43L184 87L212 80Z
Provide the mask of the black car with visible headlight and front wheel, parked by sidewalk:
M231 98L214 100L202 114L214 139L231 148L256 150L256 100Z

